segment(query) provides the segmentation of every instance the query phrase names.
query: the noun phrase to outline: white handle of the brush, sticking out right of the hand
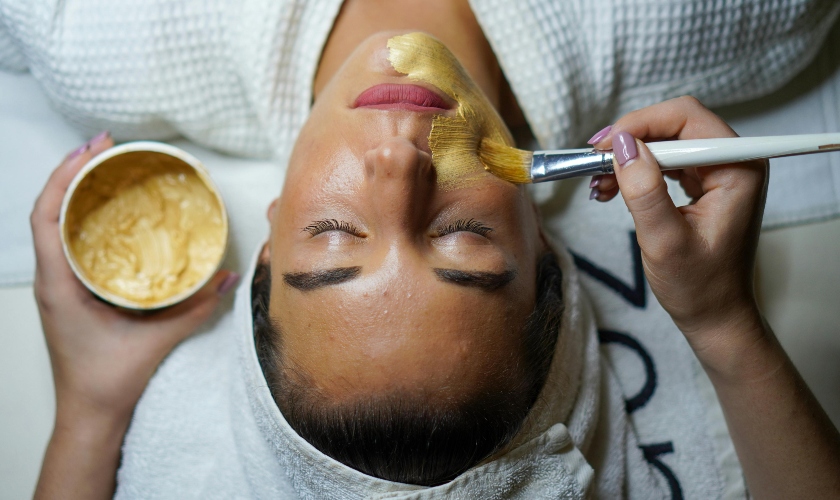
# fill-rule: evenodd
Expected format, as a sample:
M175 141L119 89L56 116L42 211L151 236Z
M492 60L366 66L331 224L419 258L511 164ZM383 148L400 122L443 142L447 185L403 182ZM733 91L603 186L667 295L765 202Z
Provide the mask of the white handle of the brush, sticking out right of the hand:
M646 144L662 170L673 170L840 151L840 134L692 139Z

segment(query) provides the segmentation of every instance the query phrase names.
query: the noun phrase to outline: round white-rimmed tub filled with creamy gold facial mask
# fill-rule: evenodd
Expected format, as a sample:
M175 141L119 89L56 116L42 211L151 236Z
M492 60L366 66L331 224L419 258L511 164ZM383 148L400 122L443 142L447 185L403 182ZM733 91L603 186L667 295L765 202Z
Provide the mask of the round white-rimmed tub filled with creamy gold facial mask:
M118 154L76 186L64 212L68 257L82 281L117 305L147 309L211 277L227 241L220 198L184 161Z

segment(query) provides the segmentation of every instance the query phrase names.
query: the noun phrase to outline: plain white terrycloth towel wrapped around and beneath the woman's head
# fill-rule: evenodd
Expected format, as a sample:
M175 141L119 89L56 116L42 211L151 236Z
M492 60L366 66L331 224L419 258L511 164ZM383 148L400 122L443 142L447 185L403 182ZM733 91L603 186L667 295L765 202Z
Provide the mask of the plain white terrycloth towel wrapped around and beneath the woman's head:
M233 314L179 347L144 393L117 497L666 498L599 353L572 259L559 256L566 310L551 371L499 458L429 488L373 478L317 451L271 398L254 347L250 287L242 286Z

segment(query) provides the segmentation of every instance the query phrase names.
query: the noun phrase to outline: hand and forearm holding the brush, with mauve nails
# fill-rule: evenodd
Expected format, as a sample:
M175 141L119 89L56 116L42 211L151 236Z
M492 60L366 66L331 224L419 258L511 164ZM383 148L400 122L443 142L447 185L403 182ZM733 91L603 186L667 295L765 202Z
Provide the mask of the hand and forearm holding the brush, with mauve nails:
M751 493L835 498L840 496L840 434L755 299L766 162L669 172L693 198L678 208L656 160L638 140L735 135L692 98L630 113L596 146L628 151L632 158L619 162L615 177L598 179L594 194L606 201L620 187L651 290L715 387Z

